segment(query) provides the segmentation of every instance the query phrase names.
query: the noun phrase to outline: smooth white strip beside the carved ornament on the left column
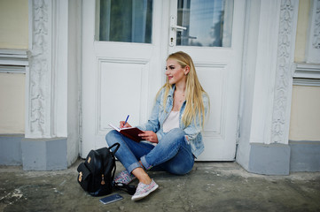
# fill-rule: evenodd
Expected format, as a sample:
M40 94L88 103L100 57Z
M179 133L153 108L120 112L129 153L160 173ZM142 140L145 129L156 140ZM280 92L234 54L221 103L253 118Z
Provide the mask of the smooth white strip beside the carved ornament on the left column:
M67 137L68 4L52 1L52 137Z

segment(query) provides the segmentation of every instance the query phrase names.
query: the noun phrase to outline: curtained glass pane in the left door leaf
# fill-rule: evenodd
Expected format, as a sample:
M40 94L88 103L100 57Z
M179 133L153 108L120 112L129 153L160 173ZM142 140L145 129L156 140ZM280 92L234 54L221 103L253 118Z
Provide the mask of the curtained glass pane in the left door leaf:
M97 0L96 37L105 42L152 42L152 0Z

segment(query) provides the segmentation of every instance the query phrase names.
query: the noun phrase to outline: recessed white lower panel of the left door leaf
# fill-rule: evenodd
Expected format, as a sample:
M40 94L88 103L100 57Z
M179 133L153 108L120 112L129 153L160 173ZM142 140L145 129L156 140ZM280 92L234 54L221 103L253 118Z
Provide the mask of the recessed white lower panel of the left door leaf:
M147 64L147 61L98 59L101 74L98 78L98 134L108 133L108 124L118 125L119 120L127 116L123 111L131 114L132 125L144 121L148 98Z

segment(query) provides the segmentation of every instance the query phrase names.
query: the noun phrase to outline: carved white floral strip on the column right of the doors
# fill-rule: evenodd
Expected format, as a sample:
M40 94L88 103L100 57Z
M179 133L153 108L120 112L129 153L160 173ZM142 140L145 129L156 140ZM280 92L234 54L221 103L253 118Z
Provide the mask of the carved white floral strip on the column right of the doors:
M299 0L282 0L277 40L271 143L288 143Z

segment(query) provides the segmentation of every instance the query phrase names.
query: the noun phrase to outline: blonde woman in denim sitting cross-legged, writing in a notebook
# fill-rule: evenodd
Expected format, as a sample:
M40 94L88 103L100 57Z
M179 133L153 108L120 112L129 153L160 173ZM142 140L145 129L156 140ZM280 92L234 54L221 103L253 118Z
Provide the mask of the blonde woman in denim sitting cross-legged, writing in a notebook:
M201 131L209 107L207 93L201 87L191 57L180 51L168 56L167 82L160 88L151 117L138 126L148 142L137 143L111 131L105 136L109 146L121 144L116 152L126 170L114 181L129 184L137 178L139 184L132 201L138 201L158 188L146 170L166 170L176 175L191 171L194 158L204 150ZM121 121L120 127L130 127Z

